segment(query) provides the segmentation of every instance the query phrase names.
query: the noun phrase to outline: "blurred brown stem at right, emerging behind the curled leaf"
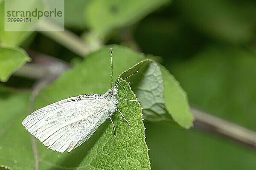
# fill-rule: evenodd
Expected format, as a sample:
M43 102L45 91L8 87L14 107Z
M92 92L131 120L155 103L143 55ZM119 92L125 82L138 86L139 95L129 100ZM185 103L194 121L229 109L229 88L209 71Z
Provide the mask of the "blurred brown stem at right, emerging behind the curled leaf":
M256 133L245 127L228 122L216 116L191 108L195 116L194 127L226 136L256 149Z

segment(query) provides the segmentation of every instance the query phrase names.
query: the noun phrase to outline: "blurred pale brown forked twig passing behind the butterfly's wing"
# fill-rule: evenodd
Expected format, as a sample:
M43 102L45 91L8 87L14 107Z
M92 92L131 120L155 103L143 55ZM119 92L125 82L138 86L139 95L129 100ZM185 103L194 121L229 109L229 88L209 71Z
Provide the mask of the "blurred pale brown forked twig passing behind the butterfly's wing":
M29 78L36 78L37 82L33 85L29 102L29 113L34 111L35 98L38 93L55 80L60 74L67 70L70 66L54 57L49 57L45 54L28 51L28 54L33 59L33 63L27 63L15 74L26 76ZM35 159L35 170L39 170L39 154L35 141L35 137L31 135L31 145Z

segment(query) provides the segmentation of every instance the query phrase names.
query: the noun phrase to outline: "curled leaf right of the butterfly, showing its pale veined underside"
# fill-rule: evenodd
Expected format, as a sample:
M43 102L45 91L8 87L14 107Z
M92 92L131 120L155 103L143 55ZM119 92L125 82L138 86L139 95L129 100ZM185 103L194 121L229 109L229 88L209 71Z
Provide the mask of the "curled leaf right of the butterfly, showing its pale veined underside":
M147 59L125 71L122 78L136 71L139 72L129 77L128 81L143 107L145 120L169 121L170 125L174 125L175 120L186 129L193 125L186 93L169 71L157 62Z

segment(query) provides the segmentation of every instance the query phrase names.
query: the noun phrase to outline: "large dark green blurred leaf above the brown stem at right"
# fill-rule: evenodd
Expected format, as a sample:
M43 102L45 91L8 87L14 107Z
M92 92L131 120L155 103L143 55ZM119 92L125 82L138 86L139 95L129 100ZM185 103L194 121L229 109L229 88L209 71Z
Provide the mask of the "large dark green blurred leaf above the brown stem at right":
M256 130L256 54L239 48L210 46L185 62L170 65L201 109Z

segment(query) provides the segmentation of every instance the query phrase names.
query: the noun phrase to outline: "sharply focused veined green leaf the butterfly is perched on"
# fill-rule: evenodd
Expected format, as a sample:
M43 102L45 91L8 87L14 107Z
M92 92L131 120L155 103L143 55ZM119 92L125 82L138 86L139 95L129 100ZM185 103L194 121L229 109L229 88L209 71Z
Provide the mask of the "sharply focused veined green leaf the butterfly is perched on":
M88 70L88 68L85 70ZM73 72L73 76L76 75L77 72ZM59 82L61 81L57 81L54 84L62 88ZM135 95L130 90L127 82L122 81L119 83L118 89L118 98L135 99ZM42 94L47 96L53 91L54 89L47 89L47 93L44 91ZM55 98L58 97L56 96ZM122 101L118 108L131 123L131 127L128 126L119 113L115 113L112 118L116 127L116 136L113 136L113 127L111 122L107 120L84 144L71 153L63 153L61 155L48 150L38 142L39 153L42 153L40 166L44 169L49 167L54 167L55 169L58 169L58 167L109 170L150 169L141 106L138 102Z

